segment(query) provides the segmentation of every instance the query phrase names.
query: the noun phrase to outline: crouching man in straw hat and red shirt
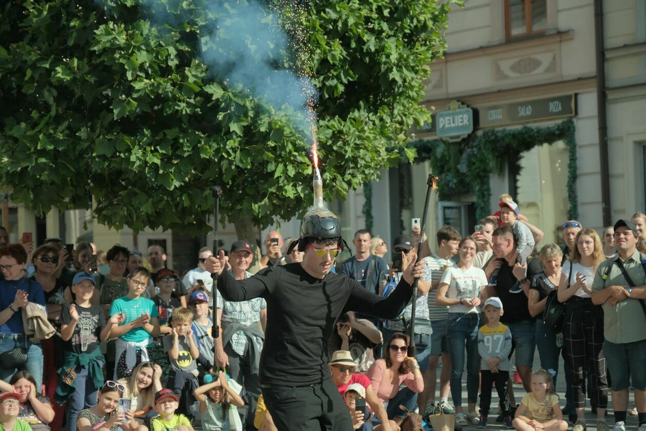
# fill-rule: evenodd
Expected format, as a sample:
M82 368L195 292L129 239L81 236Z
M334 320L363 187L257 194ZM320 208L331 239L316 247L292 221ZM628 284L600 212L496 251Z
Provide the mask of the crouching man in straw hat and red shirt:
M364 389L362 397L366 399L366 403L370 406L377 419L381 423L389 423L386 408L379 402L377 394L372 388L372 382L366 375L356 374L355 363L352 360L352 355L348 350L337 350L332 354L332 359L329 361L329 372L332 375L332 381L337 385L339 394L344 396L350 388L360 386ZM394 424L393 424L394 425ZM393 427L393 429L397 429Z

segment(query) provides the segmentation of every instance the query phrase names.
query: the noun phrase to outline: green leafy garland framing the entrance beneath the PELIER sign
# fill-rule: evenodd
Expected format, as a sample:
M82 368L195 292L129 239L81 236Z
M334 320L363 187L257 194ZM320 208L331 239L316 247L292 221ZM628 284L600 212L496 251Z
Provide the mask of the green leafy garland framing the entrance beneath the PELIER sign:
M418 139L408 143L417 149L415 162L430 162L433 173L440 177L439 197L466 193L475 194L477 218L490 215L491 188L489 178L493 173L503 173L509 162L512 169L520 172L521 157L517 156L536 145L563 140L568 147L567 193L570 209L568 218L579 216L576 194L576 139L574 121L561 121L550 127L521 129L486 129L481 134L472 134L458 143L441 139ZM509 156L514 156L510 160Z

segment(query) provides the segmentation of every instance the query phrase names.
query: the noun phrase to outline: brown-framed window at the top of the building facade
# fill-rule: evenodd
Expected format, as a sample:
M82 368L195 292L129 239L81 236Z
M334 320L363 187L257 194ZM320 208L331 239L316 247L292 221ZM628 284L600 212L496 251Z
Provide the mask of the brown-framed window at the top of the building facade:
M547 28L547 0L505 0L507 39L542 33Z

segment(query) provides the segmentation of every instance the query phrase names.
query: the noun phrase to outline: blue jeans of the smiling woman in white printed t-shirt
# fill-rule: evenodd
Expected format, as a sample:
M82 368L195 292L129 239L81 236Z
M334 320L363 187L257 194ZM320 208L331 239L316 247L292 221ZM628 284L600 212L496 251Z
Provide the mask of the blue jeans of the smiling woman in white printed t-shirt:
M462 371L466 350L467 403L475 404L480 383L480 354L478 353L479 313L448 313L448 352L451 355L451 396L453 405L462 406Z

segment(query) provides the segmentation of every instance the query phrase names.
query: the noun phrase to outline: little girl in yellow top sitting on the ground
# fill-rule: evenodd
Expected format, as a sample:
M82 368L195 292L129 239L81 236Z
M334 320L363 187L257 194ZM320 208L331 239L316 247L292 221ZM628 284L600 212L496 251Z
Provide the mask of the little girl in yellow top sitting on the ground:
M559 397L554 394L552 375L545 370L532 373L532 392L523 397L516 410L514 428L518 431L566 431L567 422L559 407Z

